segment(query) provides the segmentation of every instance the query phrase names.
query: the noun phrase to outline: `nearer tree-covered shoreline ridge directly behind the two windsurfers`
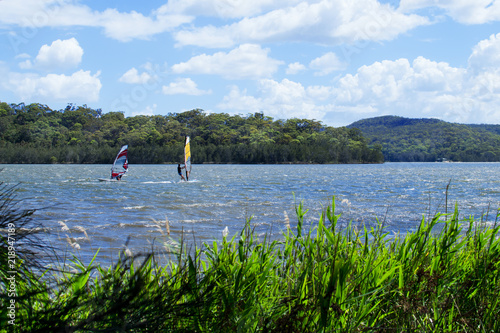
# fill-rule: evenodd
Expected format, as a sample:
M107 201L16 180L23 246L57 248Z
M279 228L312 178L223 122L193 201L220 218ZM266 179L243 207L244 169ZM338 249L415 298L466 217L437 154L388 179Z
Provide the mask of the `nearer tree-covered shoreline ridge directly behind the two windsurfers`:
M112 163L129 145L131 164L178 163L184 137L193 163L379 163L357 129L262 113L231 116L196 109L125 117L86 105L52 110L0 103L0 163Z

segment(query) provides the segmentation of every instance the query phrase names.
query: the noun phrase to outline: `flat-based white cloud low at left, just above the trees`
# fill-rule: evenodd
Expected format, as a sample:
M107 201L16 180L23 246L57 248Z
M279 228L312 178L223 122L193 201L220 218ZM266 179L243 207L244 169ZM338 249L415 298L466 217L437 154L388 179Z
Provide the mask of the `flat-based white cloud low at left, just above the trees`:
M10 73L9 80L4 83L4 89L12 90L22 100L53 100L96 102L102 84L100 72L92 75L90 71L79 70L71 76L63 74L36 74Z

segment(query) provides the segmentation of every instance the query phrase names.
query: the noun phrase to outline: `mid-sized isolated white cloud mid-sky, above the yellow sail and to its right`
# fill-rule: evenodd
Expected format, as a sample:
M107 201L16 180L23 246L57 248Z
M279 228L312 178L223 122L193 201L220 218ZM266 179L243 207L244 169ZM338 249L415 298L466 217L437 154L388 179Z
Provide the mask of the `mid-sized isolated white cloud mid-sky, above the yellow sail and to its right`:
M269 49L244 44L229 53L202 54L172 66L177 74L220 75L226 79L258 79L273 75L283 62L268 57Z

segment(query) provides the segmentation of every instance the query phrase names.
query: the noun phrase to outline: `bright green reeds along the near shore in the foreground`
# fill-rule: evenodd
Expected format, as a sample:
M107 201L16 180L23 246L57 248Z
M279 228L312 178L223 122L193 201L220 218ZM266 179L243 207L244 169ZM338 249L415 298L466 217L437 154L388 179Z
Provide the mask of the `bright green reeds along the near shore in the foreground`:
M71 269L17 283L17 332L500 332L500 240L453 214L414 232L381 224L340 228L335 200L314 226L302 204L279 240L251 221L232 238L188 249L123 252L107 268L74 257ZM498 219L498 212L497 212ZM168 225L168 222L166 223ZM173 246L172 244L175 244ZM168 264L159 264L168 257ZM4 265L4 262L2 262ZM19 267L21 270L29 268ZM3 270L3 266L2 266ZM50 276L50 278L48 278Z

